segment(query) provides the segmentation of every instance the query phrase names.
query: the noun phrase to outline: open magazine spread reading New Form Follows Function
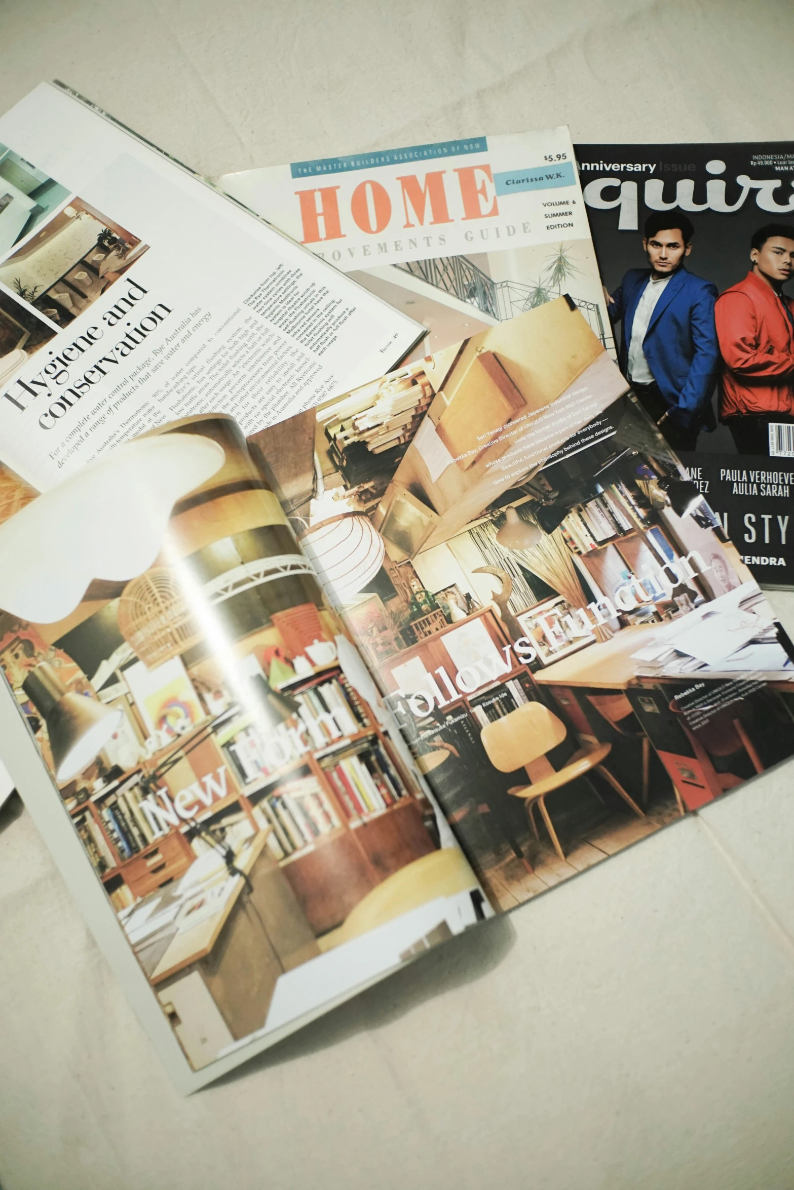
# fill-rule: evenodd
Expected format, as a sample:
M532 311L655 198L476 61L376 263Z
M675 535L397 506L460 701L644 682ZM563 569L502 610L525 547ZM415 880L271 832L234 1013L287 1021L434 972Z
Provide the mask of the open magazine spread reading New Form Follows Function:
M188 1090L793 751L788 638L564 296L114 447L0 525L0 609L7 763Z

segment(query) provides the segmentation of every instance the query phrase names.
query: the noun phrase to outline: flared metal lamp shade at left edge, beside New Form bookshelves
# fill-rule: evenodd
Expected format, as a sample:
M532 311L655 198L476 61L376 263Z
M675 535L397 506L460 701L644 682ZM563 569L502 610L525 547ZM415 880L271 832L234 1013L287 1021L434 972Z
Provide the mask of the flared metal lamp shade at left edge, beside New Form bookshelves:
M87 769L118 731L124 712L68 690L48 662L30 671L23 690L42 715L60 784Z

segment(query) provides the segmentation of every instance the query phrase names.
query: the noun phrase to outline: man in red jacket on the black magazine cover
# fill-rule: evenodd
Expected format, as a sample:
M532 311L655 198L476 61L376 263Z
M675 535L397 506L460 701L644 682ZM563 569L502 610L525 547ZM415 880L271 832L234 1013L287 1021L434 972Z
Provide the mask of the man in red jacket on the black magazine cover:
M739 455L794 452L794 227L768 224L752 237L752 268L717 299L723 356L720 420ZM781 426L781 430L771 430ZM771 441L770 441L771 439Z

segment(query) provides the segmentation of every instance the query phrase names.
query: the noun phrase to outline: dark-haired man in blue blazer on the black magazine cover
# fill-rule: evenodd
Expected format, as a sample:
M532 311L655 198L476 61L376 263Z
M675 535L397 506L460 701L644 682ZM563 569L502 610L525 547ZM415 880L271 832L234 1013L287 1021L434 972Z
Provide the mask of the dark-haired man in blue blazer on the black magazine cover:
M714 424L717 286L683 265L694 232L686 215L656 211L644 230L650 268L630 269L612 295L605 290L609 318L623 322L620 371L673 449L694 450L700 427Z

